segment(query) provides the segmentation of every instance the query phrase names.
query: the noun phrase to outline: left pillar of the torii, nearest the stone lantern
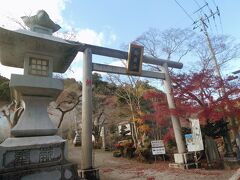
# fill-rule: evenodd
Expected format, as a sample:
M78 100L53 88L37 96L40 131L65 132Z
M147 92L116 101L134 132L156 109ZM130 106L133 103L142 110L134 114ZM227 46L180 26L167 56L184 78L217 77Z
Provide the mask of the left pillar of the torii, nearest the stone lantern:
M83 52L83 84L82 84L82 178L98 180L98 169L93 167L92 144L92 51L86 48Z

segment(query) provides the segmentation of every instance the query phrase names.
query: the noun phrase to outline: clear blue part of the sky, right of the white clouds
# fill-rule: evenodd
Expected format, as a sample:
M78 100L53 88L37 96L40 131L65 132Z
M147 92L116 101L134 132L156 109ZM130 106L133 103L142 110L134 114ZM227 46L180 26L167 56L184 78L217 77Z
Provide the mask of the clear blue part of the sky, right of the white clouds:
M197 0L196 0L197 1ZM194 0L178 0L194 20L199 18L193 12L199 7ZM215 4L219 6L222 18L223 32L240 38L236 21L239 17L240 2L235 0L208 1L213 11ZM198 4L204 5L204 0L198 0ZM208 8L204 8L208 13ZM75 28L91 28L102 31L109 27L116 34L115 46L122 42L129 42L151 27L165 30L171 27L192 27L191 19L183 12L174 0L101 0L101 1L77 1L72 0L66 4L63 16ZM216 18L221 33L219 19ZM216 33L216 32L215 32ZM113 45L113 46L114 46Z

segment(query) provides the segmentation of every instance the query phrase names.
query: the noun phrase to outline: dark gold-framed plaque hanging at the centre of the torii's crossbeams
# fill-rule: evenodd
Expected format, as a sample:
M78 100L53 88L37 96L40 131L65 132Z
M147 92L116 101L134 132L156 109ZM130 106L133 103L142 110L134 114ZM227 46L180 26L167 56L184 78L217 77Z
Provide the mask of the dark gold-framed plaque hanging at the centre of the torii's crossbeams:
M142 60L143 60L143 46L130 44L128 50L128 66L127 73L133 75L141 75Z

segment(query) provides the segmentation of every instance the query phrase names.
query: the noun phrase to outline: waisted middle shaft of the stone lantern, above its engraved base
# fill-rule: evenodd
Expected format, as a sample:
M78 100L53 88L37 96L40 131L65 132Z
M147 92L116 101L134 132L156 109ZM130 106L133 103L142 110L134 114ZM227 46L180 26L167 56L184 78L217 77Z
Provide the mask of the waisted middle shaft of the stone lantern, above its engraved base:
M49 77L12 74L10 87L15 99L25 103L24 112L11 130L14 137L50 136L57 128L49 119L47 108L63 89L63 82Z

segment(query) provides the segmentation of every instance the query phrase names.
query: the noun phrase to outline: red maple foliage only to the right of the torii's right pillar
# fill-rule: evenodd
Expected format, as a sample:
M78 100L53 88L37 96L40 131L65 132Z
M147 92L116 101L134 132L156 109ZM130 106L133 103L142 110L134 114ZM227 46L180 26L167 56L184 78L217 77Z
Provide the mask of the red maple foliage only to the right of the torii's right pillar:
M221 79L213 72L204 69L172 76L178 116L195 116L205 125L240 115L239 80L234 77Z

